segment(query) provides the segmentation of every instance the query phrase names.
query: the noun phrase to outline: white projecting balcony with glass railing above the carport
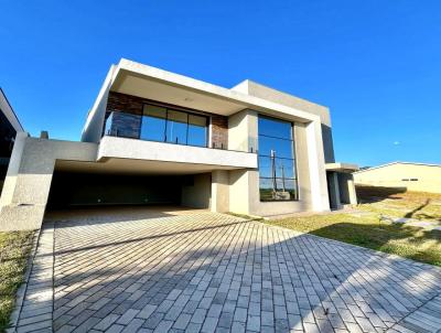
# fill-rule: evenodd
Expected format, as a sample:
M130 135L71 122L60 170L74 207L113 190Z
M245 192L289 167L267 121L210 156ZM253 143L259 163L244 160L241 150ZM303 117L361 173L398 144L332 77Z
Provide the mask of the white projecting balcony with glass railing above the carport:
M105 132L98 149L98 161L132 159L190 163L203 165L203 169L206 170L257 168L257 154L252 152L254 146L249 146L250 151L236 151L228 150L223 144L214 144L215 142L208 144L208 127L205 126L207 122L204 123L203 119L187 119L186 126L182 121L183 119L175 122L169 121L165 123L164 130L162 130L161 122L164 121L162 119L150 119L146 116L126 112L111 112L106 120ZM155 128L149 128L146 120L150 120ZM174 127L173 131L166 128L171 125ZM160 131L158 131L158 127ZM161 133L163 133L162 141L147 139L159 139ZM194 136L191 136L191 133ZM170 135L173 135L173 137L170 137Z

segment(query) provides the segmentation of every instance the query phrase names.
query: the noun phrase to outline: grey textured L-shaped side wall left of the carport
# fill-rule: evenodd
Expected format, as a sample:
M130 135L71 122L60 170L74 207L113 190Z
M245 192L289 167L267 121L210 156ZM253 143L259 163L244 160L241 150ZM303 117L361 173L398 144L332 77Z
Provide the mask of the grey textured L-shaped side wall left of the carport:
M0 198L0 229L41 226L56 160L95 161L97 144L19 133Z

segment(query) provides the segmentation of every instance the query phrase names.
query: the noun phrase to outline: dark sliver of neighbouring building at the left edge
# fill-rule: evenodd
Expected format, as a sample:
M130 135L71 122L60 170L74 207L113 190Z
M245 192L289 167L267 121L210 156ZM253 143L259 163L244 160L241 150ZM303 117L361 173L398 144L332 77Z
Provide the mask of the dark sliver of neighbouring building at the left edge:
M20 131L23 131L23 127L0 88L0 191L3 187L15 135Z

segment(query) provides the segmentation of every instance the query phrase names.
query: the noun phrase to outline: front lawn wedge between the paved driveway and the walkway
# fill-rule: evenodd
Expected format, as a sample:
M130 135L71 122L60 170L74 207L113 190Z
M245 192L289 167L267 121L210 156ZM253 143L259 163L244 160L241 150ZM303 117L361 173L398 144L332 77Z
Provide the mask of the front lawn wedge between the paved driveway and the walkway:
M441 267L440 230L385 223L375 215L329 214L265 223Z

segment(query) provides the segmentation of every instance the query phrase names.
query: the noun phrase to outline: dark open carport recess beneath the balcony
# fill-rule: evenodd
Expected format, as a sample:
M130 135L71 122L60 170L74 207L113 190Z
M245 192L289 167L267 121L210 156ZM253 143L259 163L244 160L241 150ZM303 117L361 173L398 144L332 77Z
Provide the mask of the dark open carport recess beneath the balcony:
M108 159L57 161L47 208L183 206L209 208L212 170L206 165Z

